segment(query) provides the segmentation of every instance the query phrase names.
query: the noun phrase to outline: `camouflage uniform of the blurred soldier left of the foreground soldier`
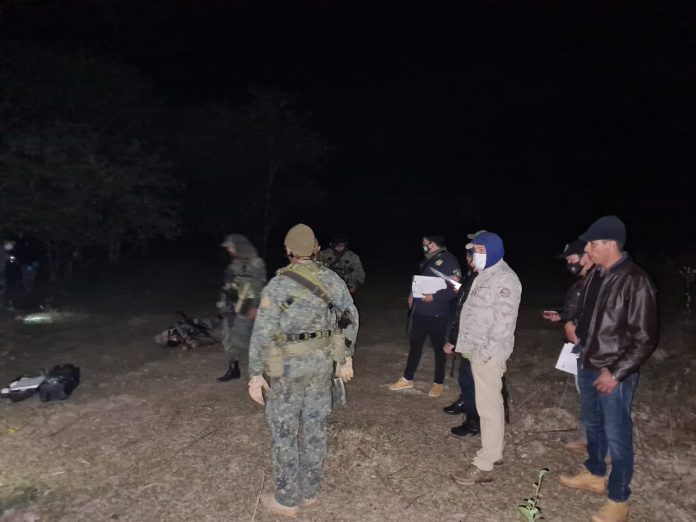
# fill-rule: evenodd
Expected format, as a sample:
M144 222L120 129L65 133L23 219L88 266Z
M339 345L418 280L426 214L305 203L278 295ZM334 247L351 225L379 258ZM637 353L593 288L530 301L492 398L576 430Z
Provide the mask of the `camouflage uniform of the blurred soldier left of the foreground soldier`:
M247 314L258 308L265 284L266 265L260 257L235 257L225 270L217 308L223 316L222 347L233 361L249 346L254 320Z

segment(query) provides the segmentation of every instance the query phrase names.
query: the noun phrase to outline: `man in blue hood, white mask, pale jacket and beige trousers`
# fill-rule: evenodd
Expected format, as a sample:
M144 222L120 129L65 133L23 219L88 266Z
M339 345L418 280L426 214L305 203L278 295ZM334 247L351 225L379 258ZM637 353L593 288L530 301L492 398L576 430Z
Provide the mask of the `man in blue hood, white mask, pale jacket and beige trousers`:
M477 235L473 249L478 277L462 306L455 351L471 361L480 418L481 449L463 474L453 475L464 486L493 481L493 465L503 458L505 411L502 378L515 344L515 327L522 285L503 260L503 240L492 232Z

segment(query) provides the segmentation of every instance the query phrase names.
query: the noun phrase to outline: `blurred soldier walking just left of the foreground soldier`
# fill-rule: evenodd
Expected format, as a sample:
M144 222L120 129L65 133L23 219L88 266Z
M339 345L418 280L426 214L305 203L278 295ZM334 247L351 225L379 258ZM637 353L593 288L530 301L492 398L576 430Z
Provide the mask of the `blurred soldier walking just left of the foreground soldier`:
M266 264L254 245L241 234L229 234L222 245L231 262L217 302L222 317L222 347L229 355L227 372L218 381L239 379L239 356L249 347L251 329L266 284Z

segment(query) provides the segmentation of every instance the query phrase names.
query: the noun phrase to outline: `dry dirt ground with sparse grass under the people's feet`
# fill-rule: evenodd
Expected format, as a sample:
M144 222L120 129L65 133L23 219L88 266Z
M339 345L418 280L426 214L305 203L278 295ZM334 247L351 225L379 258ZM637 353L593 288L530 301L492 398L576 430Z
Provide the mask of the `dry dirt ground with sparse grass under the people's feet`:
M83 315L61 324L3 316L3 385L68 362L80 366L82 383L64 402L0 402L0 521L274 520L257 509L260 491L272 486L270 435L246 380L215 381L225 366L219 345L182 351L152 340L177 309L210 314L218 274L182 290L185 279L161 271L65 292L56 303ZM571 378L554 369L559 329L525 296L507 374L505 463L493 484L463 488L450 473L468 464L480 440L450 433L461 419L442 412L457 396L449 368L445 393L429 398L426 347L415 390L387 389L406 360L403 284L373 283L359 296L356 378L348 406L330 418L320 501L299 520L522 520L516 506L544 467L546 520L589 520L603 499L558 484L583 460L563 448L575 434L578 400ZM666 319L642 372L632 520L696 520L695 331Z

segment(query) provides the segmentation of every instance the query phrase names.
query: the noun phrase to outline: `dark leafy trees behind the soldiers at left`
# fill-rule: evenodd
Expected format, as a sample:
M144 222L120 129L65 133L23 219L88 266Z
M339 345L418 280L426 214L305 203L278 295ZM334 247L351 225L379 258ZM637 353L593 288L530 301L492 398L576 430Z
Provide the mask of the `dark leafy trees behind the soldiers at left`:
M116 265L158 238L249 231L324 195L326 145L286 93L168 108L134 67L2 42L0 233L40 241L53 278L86 252Z

